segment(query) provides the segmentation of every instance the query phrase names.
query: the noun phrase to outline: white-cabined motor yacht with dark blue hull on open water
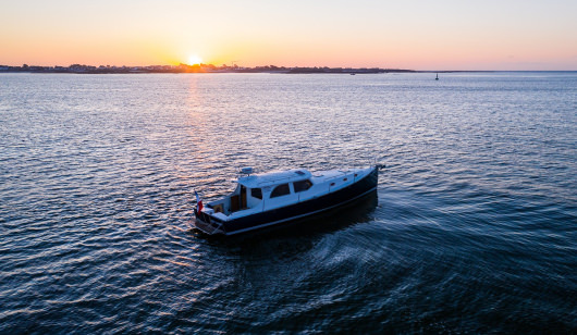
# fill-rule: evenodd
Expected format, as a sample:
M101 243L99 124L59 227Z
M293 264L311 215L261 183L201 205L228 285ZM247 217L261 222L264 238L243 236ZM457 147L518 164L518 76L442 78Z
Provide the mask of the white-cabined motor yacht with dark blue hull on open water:
M293 169L263 174L243 167L232 194L206 206L197 195L193 227L208 235L229 236L339 209L373 193L383 167Z

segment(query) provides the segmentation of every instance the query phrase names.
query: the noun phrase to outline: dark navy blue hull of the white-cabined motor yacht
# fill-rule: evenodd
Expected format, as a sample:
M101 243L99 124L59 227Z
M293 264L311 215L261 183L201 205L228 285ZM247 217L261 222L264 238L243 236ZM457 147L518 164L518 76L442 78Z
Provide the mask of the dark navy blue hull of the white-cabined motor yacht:
M198 223L197 225L201 224L205 226L205 229L202 231L214 231L219 234L233 235L303 219L337 208L370 194L377 188L378 178L379 169L375 167L363 179L359 179L355 184L334 193L321 196L316 199L310 199L270 211L255 213L226 222L222 222L205 213L198 214L195 211Z

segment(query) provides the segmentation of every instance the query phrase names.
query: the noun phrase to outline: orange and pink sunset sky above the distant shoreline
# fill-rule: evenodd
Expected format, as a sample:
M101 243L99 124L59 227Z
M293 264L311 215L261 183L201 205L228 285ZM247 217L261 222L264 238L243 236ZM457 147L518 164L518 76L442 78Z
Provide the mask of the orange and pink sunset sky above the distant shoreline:
M577 70L577 0L0 0L0 64Z

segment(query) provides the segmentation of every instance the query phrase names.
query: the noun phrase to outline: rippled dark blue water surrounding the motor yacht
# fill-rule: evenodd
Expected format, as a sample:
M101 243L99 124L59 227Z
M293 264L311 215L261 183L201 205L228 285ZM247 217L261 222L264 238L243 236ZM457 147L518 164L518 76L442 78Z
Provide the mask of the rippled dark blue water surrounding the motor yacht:
M1 75L0 333L575 333L577 73ZM386 163L231 240L193 189Z

